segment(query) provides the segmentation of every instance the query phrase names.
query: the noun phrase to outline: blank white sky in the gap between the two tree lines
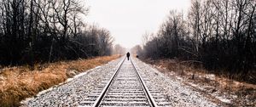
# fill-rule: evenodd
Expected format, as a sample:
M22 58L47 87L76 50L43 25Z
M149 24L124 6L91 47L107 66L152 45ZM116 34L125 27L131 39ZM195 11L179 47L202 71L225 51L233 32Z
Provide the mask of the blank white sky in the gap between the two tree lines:
M132 48L145 32L156 32L170 10L185 13L190 0L85 0L90 6L85 21L108 29L115 44Z

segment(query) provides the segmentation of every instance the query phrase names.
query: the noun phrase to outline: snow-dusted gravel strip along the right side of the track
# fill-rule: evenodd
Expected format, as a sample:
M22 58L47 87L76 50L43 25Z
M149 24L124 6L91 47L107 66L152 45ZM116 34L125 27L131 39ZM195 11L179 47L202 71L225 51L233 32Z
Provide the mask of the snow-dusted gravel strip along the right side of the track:
M148 64L138 59L133 59L137 66L137 70L143 76L146 84L150 88L158 87L163 93L168 95L173 106L219 106L204 97L200 92L196 92L189 86L183 84L182 78L170 78L154 69ZM150 78L150 79L148 79Z

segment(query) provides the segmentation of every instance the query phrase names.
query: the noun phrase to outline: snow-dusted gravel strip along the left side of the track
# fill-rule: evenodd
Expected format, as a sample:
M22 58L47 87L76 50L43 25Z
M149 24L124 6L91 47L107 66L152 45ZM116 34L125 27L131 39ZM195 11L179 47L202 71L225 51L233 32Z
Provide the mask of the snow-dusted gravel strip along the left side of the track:
M68 79L60 85L50 87L38 93L34 98L21 101L22 106L79 106L82 101L105 76L112 75L117 69L120 59L115 59L107 65L98 66L92 70Z

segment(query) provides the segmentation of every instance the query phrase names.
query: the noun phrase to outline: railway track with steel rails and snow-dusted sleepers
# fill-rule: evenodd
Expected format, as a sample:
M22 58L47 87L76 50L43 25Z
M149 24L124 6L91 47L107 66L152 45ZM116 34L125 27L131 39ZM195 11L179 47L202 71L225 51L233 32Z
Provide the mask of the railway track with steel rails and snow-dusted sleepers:
M171 105L160 91L148 89L132 60L127 59L123 59L118 69L109 73L99 87L79 104L90 107Z

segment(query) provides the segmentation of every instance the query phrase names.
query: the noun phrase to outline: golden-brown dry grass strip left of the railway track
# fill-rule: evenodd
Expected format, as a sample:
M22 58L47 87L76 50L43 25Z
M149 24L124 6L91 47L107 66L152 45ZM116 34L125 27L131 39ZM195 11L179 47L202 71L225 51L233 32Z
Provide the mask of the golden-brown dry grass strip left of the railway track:
M18 106L22 99L67 80L67 71L83 72L119 58L119 55L61 61L51 64L5 67L0 70L0 106Z

